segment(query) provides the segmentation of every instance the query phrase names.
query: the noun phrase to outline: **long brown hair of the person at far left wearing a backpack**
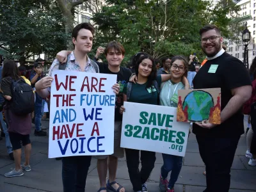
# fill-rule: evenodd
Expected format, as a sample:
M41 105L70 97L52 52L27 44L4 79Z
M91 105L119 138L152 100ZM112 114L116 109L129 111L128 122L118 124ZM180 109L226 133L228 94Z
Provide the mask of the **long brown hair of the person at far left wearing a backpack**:
M12 77L15 81L20 79L18 67L13 60L4 61L2 77Z

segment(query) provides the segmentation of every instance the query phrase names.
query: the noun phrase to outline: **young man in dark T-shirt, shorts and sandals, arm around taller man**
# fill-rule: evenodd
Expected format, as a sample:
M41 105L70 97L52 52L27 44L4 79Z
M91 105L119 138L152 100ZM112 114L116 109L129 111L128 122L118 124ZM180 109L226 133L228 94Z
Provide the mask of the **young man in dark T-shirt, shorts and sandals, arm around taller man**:
M102 47L99 47L98 52L102 51ZM67 59L67 54L69 51L58 52L57 58L61 61ZM118 165L118 158L124 157L124 148L120 147L121 140L121 130L122 130L122 115L119 113L119 109L122 106L123 102L123 89L125 83L129 81L131 77L131 71L128 68L120 66L122 60L124 60L125 50L122 44L119 42L109 42L104 49L104 54L108 60L108 64L99 63L99 70L102 74L116 74L117 83L120 85L120 93L116 95L115 102L115 134L114 134L114 153L111 156L97 156L97 169L100 180L100 189L99 192L106 192L106 190L111 191L120 191L124 192L125 189L123 186L116 182L116 170ZM109 159L108 159L109 158ZM108 160L108 161L107 161ZM109 180L106 184L106 177L109 171Z

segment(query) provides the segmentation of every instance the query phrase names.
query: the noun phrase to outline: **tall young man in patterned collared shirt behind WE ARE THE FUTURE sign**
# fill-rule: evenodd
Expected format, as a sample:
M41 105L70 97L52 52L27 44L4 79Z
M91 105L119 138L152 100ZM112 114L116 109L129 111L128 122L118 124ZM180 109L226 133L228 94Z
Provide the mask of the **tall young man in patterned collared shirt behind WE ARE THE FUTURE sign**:
M99 72L97 65L93 65L87 53L92 49L94 28L91 24L78 24L72 31L74 51L68 56L65 70L77 72ZM41 97L50 95L52 70L59 69L61 63L54 60L49 70L49 77L44 77L35 85L36 92ZM119 92L119 84L113 86L115 93ZM86 185L86 177L92 156L71 156L62 159L62 180L64 192L82 192Z

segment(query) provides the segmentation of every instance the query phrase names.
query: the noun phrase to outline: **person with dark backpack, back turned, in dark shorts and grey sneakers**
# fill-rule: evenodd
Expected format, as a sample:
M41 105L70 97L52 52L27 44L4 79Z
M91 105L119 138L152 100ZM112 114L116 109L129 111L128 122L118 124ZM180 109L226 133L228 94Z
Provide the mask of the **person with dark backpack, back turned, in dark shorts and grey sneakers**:
M4 115L8 124L8 133L13 148L15 169L5 173L5 177L24 175L22 170L31 171L29 159L31 154L31 111L34 105L33 89L19 76L17 65L12 60L5 60L1 79L1 93L7 104L4 107ZM25 163L21 162L21 143L25 148Z

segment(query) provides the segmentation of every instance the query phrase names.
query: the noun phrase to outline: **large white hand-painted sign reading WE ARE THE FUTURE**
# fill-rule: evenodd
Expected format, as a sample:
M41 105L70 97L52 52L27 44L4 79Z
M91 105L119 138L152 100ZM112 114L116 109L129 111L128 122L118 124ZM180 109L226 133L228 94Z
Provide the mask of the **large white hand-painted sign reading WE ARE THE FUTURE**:
M54 70L49 158L113 154L116 75Z

